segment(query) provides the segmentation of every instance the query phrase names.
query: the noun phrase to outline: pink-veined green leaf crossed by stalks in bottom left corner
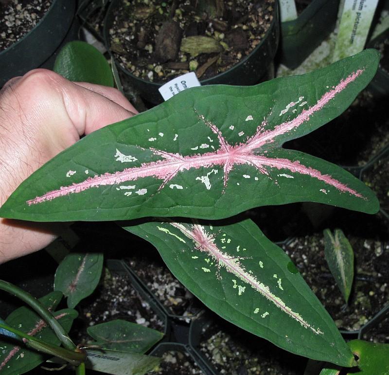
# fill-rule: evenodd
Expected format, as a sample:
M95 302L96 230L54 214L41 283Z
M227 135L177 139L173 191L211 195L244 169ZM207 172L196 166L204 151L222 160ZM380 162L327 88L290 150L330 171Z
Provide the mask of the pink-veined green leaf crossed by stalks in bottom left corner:
M62 293L52 292L39 299L49 310L53 311L59 304ZM72 309L59 310L54 313L56 319L61 323L67 332L71 328L73 320L78 313ZM5 320L12 327L48 343L59 346L60 341L53 330L32 310L27 307L19 307L13 311ZM45 360L45 356L26 348L18 341L7 338L0 338L0 372L1 375L24 374L32 370Z

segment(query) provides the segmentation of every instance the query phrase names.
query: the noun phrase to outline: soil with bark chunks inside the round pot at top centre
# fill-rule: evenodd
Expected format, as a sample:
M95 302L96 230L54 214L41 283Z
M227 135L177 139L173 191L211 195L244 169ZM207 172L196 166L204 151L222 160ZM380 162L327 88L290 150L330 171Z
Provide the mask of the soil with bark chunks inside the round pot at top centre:
M263 39L274 0L123 1L114 10L110 48L137 77L164 82L195 71L230 69Z

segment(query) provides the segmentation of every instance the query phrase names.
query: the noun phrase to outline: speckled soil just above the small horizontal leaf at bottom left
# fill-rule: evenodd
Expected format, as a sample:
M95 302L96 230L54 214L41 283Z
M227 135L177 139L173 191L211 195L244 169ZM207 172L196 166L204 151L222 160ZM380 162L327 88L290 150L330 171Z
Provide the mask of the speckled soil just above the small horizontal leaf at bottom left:
M76 321L78 337L74 341L90 339L88 326L115 319L123 319L163 332L164 323L132 286L130 279L122 274L106 272L101 283L91 296L79 304Z

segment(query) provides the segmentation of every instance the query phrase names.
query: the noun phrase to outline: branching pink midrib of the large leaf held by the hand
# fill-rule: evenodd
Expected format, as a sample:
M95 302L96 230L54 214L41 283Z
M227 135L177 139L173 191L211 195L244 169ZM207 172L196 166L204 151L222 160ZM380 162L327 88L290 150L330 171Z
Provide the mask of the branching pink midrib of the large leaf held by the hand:
M349 188L346 184L332 178L329 175L322 175L318 170L302 165L299 161L289 161L281 158L267 158L265 155L259 155L259 148L265 143L269 143L275 137L290 131L292 128L300 126L302 123L309 120L309 117L324 107L337 93L345 89L351 82L353 82L363 70L357 70L346 77L344 80L325 93L318 102L303 110L295 119L277 125L273 130L263 131L263 125L257 128L256 133L249 137L246 143L239 143L230 145L223 137L221 131L207 120L203 115L198 114L198 117L207 126L209 126L213 133L217 135L219 140L219 149L214 152L207 152L204 154L196 154L190 156L181 156L179 154L168 153L166 151L151 149L155 155L162 158L159 161L152 161L141 164L140 167L126 168L123 171L115 173L105 173L97 175L93 178L88 178L84 181L73 183L72 185L62 186L57 190L52 190L42 196L37 196L34 199L28 200L29 205L41 203L44 201L55 199L59 196L67 196L72 193L80 193L92 187L114 185L126 181L134 181L140 178L154 177L161 179L159 190L161 190L168 181L177 176L179 172L190 170L192 168L198 169L201 167L222 166L224 169L224 188L222 194L225 192L230 171L235 165L248 164L257 168L259 173L268 175L265 172L264 166L274 167L277 169L285 168L295 173L309 175L312 178L319 179L326 184L334 186L341 192L348 192L351 195L362 197L354 189Z

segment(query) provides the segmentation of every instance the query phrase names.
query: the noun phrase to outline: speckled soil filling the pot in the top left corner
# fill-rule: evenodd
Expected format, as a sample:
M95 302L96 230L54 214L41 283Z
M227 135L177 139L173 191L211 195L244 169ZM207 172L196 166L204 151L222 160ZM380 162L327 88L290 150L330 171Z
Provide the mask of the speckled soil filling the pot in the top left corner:
M0 51L25 36L45 15L53 0L0 2Z

